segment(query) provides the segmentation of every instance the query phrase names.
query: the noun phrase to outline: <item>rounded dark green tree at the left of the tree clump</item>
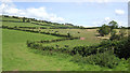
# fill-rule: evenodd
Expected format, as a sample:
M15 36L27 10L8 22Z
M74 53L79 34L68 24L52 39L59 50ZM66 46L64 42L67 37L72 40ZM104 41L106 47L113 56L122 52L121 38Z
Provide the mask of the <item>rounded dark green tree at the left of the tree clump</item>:
M99 33L100 33L102 36L108 34L109 32L110 32L110 28L109 28L109 26L107 26L107 25L105 25L105 24L104 24L104 25L100 28L100 30L99 30Z

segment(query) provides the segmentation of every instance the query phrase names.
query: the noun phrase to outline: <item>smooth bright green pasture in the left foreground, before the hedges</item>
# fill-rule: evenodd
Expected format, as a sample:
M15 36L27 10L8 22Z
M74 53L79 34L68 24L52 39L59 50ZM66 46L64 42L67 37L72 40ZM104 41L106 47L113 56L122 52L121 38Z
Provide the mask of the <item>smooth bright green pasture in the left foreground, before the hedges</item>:
M42 56L28 49L26 40L50 40L56 36L2 29L2 69L3 71L82 71L107 70L99 65L79 65L70 57Z

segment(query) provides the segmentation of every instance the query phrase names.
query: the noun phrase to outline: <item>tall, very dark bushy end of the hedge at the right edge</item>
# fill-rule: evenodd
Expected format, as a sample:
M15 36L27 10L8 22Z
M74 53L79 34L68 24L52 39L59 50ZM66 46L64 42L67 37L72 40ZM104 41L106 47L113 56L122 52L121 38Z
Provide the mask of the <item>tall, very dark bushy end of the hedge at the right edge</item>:
M114 54L119 58L130 58L130 36L126 36L119 41L103 41L99 47L114 49Z

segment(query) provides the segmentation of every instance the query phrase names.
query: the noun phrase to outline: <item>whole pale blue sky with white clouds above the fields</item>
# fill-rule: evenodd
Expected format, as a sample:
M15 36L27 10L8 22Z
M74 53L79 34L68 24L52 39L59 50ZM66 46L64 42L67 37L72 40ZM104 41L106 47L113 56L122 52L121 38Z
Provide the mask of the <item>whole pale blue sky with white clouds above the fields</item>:
M98 27L116 20L128 26L128 3L107 2L1 2L0 14L26 16L54 23Z

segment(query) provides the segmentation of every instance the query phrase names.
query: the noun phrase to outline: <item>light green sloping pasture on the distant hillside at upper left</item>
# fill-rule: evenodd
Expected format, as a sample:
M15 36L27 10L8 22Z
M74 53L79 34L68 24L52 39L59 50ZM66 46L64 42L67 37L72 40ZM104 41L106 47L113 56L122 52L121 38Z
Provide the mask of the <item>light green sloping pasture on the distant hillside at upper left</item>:
M67 28L73 28L73 26L66 26L66 25L54 25L54 24L48 24L48 23L39 23L39 21L34 21L30 20L30 23L23 23L22 18L13 18L13 17L3 17L1 16L1 19L3 20L2 24L3 26L10 26L10 27L44 27L44 28L58 28L58 27L67 27ZM5 20L5 21L4 21ZM9 20L9 21L8 21ZM10 21L11 20L11 21ZM27 19L26 19L27 20ZM41 25L35 25L31 23L37 23Z

